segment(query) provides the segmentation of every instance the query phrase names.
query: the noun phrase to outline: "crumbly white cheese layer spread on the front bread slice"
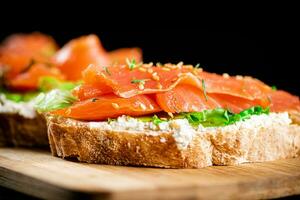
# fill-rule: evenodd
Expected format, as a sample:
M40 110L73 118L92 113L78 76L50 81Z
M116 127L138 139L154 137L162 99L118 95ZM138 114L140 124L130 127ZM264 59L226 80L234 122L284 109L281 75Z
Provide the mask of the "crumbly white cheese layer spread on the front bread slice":
M89 127L103 130L133 131L148 135L170 132L176 141L177 147L185 149L196 134L214 133L217 131L242 131L243 129L251 129L255 132L261 127L270 127L273 124L286 126L290 123L291 119L287 112L253 115L247 120L221 127L203 127L202 125L193 127L187 119L173 119L155 125L152 122L142 122L136 118L124 115L111 122L89 122ZM161 140L161 142L165 141Z

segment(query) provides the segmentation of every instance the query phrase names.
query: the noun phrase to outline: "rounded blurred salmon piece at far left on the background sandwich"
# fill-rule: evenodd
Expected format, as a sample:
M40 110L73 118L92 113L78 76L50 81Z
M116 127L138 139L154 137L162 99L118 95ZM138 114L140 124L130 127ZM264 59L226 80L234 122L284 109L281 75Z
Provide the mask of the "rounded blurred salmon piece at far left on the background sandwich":
M7 67L5 78L16 76L32 61L49 63L58 49L55 41L41 33L14 34L4 40L0 47L0 67Z

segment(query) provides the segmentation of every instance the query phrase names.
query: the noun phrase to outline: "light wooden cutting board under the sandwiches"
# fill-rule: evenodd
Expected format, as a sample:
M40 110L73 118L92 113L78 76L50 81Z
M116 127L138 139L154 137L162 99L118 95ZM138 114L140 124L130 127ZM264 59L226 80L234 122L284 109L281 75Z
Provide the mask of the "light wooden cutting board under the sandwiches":
M0 184L47 199L260 199L300 194L300 158L203 169L83 164L0 148Z

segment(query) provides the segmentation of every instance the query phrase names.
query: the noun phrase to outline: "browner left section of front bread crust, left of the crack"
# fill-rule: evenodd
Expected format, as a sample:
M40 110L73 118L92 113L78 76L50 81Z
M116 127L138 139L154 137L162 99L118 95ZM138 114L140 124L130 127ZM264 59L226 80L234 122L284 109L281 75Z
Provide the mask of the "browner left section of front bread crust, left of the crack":
M99 130L86 122L73 120L69 124L67 119L54 116L48 116L48 130L53 155L81 162L164 168L212 165L212 148L206 136L195 137L187 149L180 150L170 132L150 135Z

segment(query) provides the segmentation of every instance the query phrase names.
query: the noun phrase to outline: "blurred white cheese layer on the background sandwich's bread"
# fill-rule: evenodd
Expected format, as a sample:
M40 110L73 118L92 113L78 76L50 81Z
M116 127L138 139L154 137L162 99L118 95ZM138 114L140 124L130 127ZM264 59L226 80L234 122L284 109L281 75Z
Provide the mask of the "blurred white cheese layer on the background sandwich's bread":
M29 119L36 117L33 101L16 103L6 99L3 94L0 94L0 113L19 114Z

